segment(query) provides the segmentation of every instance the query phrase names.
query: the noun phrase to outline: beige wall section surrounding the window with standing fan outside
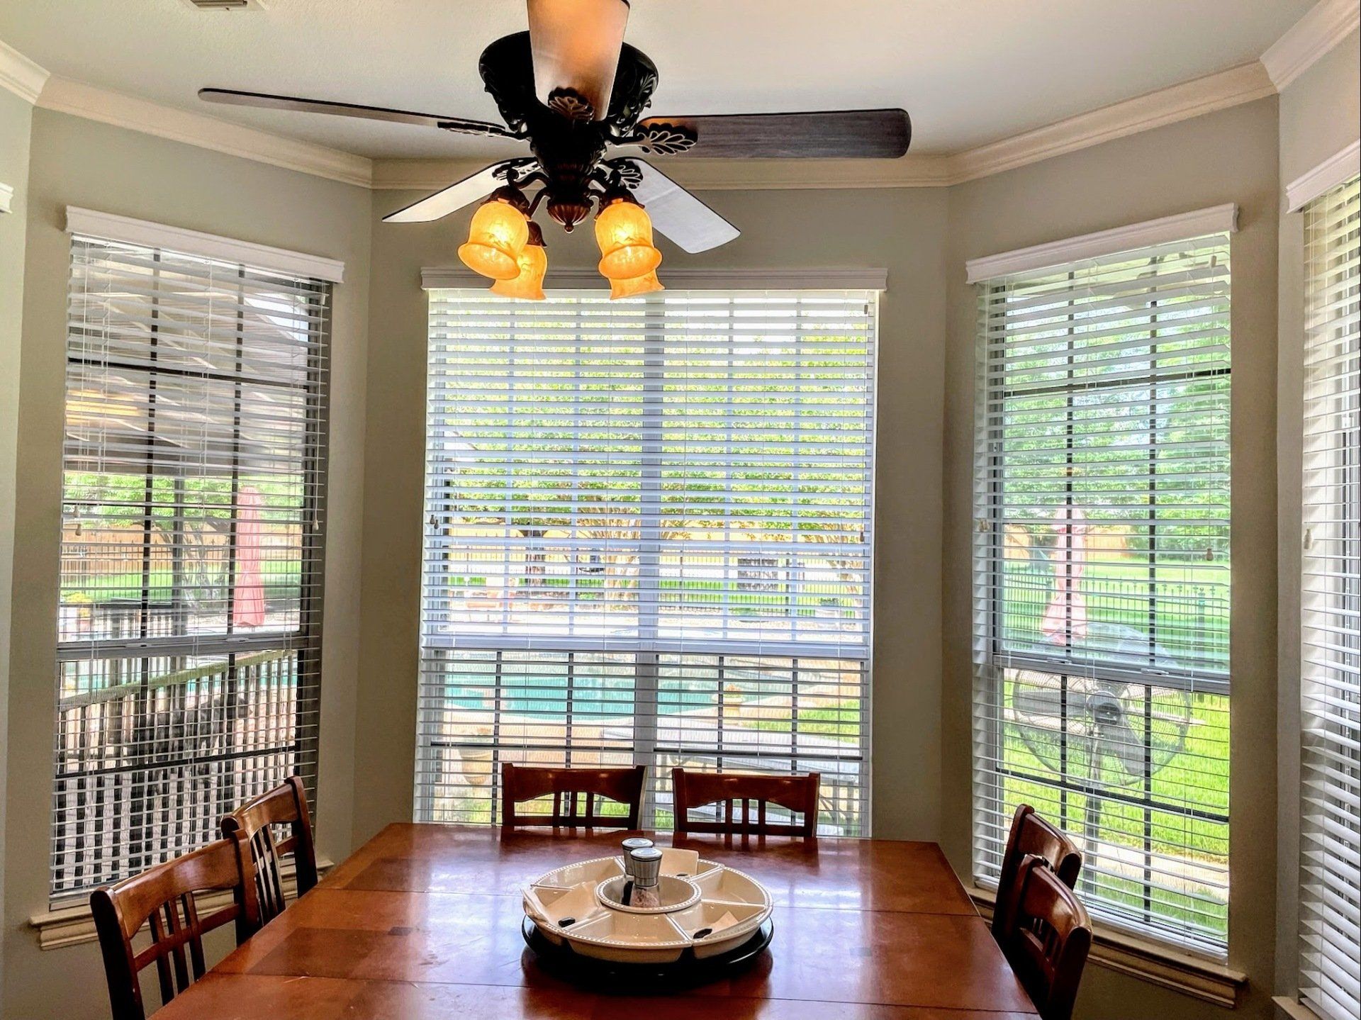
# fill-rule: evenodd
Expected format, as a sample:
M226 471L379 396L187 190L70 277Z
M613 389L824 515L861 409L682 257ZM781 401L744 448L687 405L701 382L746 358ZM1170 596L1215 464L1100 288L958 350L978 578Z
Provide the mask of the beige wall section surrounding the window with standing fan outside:
M945 846L969 874L972 434L976 302L964 263L1225 202L1233 261L1233 699L1229 961L1252 982L1239 1016L1270 1015L1275 895L1277 99L1109 142L951 189L945 422ZM1079 1016L1222 1015L1100 967Z

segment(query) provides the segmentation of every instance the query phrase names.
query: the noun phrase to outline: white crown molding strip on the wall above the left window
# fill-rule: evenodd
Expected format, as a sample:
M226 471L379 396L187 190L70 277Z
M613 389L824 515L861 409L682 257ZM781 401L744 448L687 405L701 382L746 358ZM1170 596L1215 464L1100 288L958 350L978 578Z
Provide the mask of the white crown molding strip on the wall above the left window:
M332 181L363 188L373 181L373 161L362 155L271 135L206 113L162 106L69 78L49 78L38 106Z

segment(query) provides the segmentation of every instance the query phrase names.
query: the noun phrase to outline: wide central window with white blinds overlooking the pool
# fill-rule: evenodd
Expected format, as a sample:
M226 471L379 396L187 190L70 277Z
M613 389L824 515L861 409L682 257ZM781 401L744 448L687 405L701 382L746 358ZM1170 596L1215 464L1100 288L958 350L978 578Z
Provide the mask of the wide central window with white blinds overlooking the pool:
M433 290L415 816L504 761L822 774L868 829L876 296Z

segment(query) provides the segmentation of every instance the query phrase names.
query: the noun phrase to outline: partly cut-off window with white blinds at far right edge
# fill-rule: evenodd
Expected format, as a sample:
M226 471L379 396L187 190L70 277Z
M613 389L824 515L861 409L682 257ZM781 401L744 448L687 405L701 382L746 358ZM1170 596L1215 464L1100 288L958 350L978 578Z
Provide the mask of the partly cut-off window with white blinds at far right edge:
M1361 1013L1361 180L1304 222L1300 998L1343 1020Z

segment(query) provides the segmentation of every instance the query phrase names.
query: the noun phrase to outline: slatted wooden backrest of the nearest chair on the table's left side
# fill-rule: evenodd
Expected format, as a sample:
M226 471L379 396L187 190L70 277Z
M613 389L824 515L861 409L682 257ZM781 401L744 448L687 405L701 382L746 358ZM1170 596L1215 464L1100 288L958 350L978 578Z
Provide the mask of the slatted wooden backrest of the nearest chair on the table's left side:
M208 917L199 917L195 893L216 889L230 889L231 903ZM192 981L203 976L204 931L234 922L240 945L260 927L241 838L219 839L132 878L95 889L90 893L90 911L103 953L113 1020L146 1020L137 981L146 967L157 966L161 1001L169 1002L177 991L189 987L191 974ZM136 952L132 940L147 921L151 922L151 945Z

